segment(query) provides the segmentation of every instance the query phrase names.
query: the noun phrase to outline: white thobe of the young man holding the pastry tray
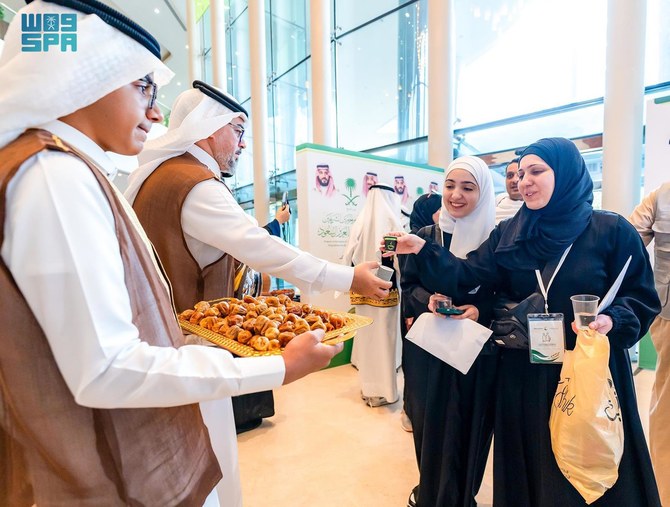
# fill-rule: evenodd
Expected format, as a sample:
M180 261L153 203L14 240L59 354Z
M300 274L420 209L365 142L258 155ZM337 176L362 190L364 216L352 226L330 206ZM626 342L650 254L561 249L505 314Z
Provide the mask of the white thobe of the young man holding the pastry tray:
M113 174L111 161L81 132L58 121L42 128ZM7 189L6 211L0 254L77 403L101 409L230 403L230 396L282 384L281 356L236 359L218 348L140 340L114 217L81 160L55 151L31 157ZM230 423L210 420L208 427L223 431ZM206 505L217 504L208 498Z

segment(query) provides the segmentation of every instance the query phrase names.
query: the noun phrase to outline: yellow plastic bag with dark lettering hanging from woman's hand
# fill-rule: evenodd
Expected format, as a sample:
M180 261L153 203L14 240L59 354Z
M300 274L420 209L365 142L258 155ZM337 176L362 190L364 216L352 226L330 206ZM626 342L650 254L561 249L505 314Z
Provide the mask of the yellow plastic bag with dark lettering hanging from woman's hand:
M619 476L623 422L608 361L607 336L580 330L566 351L551 407L551 447L558 467L587 504Z

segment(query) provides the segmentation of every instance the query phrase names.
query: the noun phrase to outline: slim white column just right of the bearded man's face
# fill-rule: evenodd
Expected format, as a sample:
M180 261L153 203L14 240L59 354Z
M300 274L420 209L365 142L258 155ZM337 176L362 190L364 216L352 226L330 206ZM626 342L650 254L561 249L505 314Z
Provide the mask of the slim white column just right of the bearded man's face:
M267 170L267 64L265 55L265 1L249 0L249 46L251 60L251 127L254 139L254 209L263 226L268 220Z

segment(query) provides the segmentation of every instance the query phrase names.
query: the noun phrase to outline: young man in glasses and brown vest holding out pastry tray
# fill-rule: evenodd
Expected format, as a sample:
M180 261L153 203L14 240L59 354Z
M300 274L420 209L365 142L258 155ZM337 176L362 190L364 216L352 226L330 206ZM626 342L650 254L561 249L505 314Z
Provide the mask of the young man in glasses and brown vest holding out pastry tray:
M76 24L76 53L22 51L22 18L46 16ZM172 72L151 34L94 0L37 0L5 42L0 505L217 506L198 403L292 382L339 348L309 332L240 363L184 344L105 155L137 154L163 119Z

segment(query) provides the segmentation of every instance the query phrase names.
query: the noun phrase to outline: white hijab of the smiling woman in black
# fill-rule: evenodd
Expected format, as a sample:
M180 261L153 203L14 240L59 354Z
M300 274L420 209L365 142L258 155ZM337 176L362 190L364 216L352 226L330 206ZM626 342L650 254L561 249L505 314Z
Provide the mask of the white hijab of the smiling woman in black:
M464 169L475 178L479 186L479 201L472 212L463 218L453 218L442 203L440 209L440 229L452 234L449 251L456 257L465 259L476 250L493 230L495 223L495 193L493 178L486 163L479 157L458 157L445 171L445 179L454 169Z

